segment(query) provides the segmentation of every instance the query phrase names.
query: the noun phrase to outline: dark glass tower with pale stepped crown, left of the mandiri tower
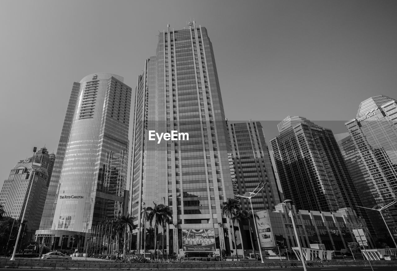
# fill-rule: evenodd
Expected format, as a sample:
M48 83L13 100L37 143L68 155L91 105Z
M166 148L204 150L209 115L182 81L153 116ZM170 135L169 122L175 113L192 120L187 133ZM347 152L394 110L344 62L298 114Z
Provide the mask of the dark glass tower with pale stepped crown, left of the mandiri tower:
M271 140L284 198L297 209L336 211L351 207L361 215L357 190L330 129L303 117L287 117Z

